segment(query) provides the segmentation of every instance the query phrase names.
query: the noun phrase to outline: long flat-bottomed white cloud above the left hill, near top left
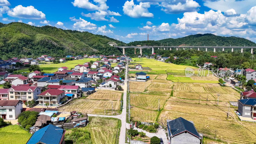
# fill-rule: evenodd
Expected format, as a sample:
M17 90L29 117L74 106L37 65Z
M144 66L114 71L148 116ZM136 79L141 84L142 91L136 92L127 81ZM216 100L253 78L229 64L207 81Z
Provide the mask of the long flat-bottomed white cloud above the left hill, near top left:
M18 5L13 9L9 10L7 14L11 17L18 17L24 19L45 19L45 14L35 9L34 6L23 7L22 5Z

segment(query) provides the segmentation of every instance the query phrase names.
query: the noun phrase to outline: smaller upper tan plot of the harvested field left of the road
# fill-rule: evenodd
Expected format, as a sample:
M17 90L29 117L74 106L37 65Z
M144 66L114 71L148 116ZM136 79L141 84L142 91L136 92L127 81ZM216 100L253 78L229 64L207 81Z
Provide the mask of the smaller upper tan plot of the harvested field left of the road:
M120 100L121 95L121 92L98 90L97 92L94 92L86 98L95 100Z

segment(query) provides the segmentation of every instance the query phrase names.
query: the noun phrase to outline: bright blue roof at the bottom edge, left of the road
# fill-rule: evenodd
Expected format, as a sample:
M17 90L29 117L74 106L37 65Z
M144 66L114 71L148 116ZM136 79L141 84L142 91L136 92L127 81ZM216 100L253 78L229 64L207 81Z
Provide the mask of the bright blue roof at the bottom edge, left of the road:
M59 144L64 130L60 127L49 124L36 131L27 144L36 144L38 142L47 144Z

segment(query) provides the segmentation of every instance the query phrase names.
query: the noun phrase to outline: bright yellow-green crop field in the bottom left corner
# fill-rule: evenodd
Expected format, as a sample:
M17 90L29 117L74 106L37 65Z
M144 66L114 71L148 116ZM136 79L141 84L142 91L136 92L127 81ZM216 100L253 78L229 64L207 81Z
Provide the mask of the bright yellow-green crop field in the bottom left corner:
M19 125L9 125L0 129L0 143L20 144L26 143L32 134Z

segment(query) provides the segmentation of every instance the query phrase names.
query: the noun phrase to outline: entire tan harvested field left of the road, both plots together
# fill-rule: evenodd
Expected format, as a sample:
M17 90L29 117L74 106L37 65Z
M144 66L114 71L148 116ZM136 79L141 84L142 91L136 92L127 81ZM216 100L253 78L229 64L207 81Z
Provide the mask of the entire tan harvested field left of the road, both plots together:
M64 109L64 111L79 111L82 113L99 115L104 115L106 112L106 115L112 115L113 103L113 115L116 115L120 112L121 95L121 92L99 90L87 98L83 97L72 100L59 108Z

